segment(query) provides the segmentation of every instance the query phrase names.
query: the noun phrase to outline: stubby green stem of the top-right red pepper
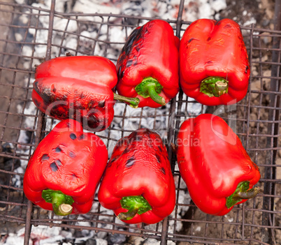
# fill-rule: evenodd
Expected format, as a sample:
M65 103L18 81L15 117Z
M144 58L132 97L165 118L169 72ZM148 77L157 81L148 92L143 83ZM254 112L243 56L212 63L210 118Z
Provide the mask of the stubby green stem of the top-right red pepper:
M229 82L222 77L207 77L200 84L200 91L209 97L219 97L229 91Z

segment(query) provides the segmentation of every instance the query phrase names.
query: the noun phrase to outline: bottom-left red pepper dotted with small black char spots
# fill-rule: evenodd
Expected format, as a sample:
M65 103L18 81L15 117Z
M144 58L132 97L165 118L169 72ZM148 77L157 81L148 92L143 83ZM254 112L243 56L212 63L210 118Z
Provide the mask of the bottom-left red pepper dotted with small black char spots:
M85 214L91 207L108 151L78 121L66 119L38 144L24 174L24 194L57 215Z

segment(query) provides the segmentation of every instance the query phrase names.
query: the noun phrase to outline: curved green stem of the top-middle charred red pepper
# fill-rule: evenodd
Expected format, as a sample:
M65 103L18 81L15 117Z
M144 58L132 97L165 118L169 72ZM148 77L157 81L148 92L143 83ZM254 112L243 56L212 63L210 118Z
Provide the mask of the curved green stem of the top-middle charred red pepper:
M153 77L145 77L143 81L135 87L138 95L143 98L152 98L153 101L159 105L166 105L165 98L159 96L163 86Z

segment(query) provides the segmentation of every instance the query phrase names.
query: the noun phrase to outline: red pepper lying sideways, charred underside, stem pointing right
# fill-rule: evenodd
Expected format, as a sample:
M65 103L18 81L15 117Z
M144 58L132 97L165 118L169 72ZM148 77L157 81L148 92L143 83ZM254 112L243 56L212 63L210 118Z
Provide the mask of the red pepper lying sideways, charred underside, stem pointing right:
M103 131L113 120L114 99L137 107L138 98L114 95L116 67L95 56L58 57L36 68L32 100L56 119L76 119L84 128Z

